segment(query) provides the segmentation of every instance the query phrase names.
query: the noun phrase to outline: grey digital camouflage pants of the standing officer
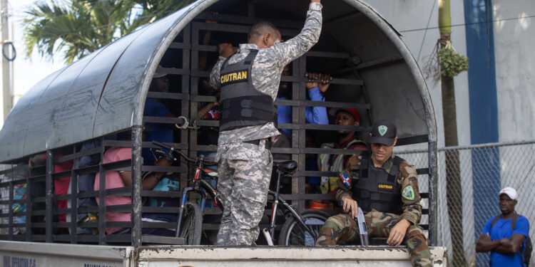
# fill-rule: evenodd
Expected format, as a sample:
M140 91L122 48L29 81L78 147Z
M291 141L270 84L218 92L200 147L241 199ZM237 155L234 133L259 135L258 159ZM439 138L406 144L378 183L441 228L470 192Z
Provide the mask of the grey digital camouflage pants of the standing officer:
M250 246L258 239L258 224L264 214L272 156L265 142L252 145L235 142L218 147L218 195L223 218L218 246Z

